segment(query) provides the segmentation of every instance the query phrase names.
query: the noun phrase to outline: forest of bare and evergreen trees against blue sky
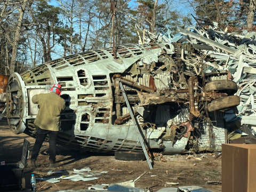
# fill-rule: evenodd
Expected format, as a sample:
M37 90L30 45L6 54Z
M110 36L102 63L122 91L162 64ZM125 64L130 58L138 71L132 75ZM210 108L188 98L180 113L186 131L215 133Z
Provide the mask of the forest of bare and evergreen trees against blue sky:
M158 33L218 23L255 31L256 0L0 0L0 74Z

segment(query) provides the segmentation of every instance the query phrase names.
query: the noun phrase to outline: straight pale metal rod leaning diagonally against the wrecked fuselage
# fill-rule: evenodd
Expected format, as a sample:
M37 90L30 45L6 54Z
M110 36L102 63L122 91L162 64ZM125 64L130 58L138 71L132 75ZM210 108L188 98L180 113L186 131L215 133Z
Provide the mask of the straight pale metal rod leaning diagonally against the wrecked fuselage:
M131 117L132 117L132 121L133 121L133 124L134 124L134 126L135 126L135 129L136 129L136 131L137 131L138 137L139 137L139 139L140 139L140 143L141 143L141 146L142 146L144 155L145 155L145 157L146 157L146 159L147 159L149 168L150 168L150 170L152 170L153 167L152 167L152 165L151 165L150 159L148 158L148 154L147 154L147 150L146 150L146 147L145 147L145 143L144 143L144 140L143 140L143 138L142 138L142 135L141 135L141 133L140 133L140 131L139 131L139 127L138 127L138 125L137 125L137 123L136 123L136 121L135 121L135 118L134 118L133 114L132 114L132 109L131 109L130 103L129 103L129 101L128 101L126 92L125 92L125 90L124 90L124 86L123 86L122 82L119 82L119 85L120 85L121 90L122 90L122 93L123 93L123 95L124 95L124 100L125 100L125 103L126 103L126 105L127 105L127 108L129 109L129 113L130 113L130 115L131 115Z

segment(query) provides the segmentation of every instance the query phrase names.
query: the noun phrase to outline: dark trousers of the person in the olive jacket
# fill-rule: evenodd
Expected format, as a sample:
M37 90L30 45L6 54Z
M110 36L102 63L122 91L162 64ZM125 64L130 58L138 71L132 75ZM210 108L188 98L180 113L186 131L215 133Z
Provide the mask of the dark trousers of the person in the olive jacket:
M36 142L33 147L31 159L37 158L47 134L49 135L49 159L55 162L56 138L58 135L58 131L43 130L43 129L40 129L39 127L37 127L37 130L36 130Z

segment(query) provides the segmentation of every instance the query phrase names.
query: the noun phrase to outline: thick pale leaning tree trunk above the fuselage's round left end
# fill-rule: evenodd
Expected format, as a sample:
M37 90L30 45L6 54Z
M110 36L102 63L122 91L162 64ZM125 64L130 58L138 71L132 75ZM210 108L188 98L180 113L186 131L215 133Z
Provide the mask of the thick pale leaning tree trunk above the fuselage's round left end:
M21 9L19 9L19 19L18 19L18 23L17 23L17 28L15 30L13 42L12 43L10 42L12 45L12 58L11 58L10 67L9 67L10 74L14 73L16 55L17 55L17 50L18 50L18 43L19 43L19 39L20 39L20 30L21 30L23 15L25 12L25 8L27 6L27 2L28 2L28 0L24 0L21 5Z

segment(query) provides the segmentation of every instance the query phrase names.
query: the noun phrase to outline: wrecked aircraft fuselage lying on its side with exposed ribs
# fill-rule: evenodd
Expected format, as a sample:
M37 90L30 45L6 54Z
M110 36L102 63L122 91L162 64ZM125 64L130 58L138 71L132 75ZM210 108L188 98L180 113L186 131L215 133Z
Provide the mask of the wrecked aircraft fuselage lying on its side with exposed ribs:
M201 50L210 46L185 40L90 50L12 74L10 129L35 137L31 98L59 83L66 101L59 145L100 153L142 151L141 142L163 154L220 151L226 132L218 111L239 105L237 84L228 70L209 72L213 58Z

